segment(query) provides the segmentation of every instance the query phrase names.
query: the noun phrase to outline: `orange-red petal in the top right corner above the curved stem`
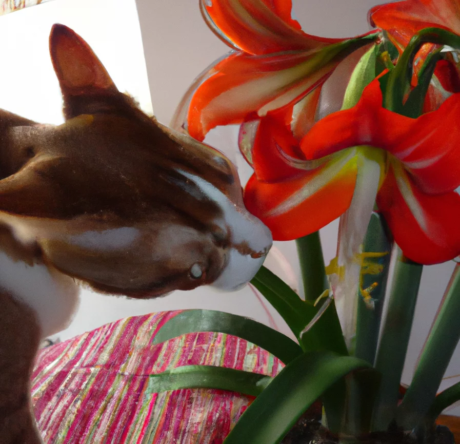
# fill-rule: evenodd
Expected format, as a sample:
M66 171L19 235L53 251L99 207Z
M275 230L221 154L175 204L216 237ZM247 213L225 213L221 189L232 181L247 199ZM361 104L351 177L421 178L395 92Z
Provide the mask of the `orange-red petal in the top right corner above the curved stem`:
M460 33L458 0L406 0L374 6L369 11L372 24L385 29L391 40L405 47L418 31L438 27Z

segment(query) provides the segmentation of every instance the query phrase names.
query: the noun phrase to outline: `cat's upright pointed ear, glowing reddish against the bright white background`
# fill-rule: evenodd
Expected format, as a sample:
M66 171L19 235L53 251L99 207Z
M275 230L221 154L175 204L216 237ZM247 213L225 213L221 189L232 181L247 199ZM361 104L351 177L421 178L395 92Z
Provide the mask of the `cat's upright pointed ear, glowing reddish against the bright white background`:
M66 119L106 110L121 94L89 45L67 26L53 25L50 53L63 93Z

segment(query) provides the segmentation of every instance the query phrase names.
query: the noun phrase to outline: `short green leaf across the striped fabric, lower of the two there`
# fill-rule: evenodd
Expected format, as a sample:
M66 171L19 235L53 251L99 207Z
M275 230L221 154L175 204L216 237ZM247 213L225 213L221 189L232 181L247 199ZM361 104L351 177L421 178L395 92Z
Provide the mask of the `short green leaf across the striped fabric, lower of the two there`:
M272 380L270 376L214 365L184 365L149 376L145 393L181 389L218 389L258 396Z

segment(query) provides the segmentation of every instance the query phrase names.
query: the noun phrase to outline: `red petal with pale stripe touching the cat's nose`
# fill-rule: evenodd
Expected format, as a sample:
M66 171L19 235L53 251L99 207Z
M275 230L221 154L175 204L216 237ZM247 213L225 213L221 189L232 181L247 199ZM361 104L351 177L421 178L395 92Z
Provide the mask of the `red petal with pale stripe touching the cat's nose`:
M356 161L354 157L340 157L337 162L342 168L331 162L302 177L278 183L260 182L253 175L246 185L245 205L271 229L274 240L313 233L350 206ZM322 186L318 187L318 182Z

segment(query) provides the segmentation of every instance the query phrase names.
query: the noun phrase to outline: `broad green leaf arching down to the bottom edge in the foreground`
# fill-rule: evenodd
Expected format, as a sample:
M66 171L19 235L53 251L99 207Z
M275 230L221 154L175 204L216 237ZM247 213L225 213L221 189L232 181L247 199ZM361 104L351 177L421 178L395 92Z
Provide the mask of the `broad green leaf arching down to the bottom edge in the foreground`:
M369 363L330 352L310 352L288 364L254 400L225 444L277 444L332 384Z

